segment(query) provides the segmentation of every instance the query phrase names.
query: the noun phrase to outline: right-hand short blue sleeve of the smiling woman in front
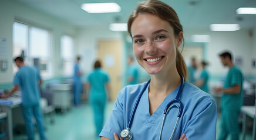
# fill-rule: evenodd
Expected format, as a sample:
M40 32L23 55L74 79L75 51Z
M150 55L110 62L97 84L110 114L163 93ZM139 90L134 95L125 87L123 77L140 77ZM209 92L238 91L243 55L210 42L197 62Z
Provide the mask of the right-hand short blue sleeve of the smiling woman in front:
M216 120L217 106L215 101L209 97L206 101L198 102L183 133L186 134L186 138L190 140L215 140Z

